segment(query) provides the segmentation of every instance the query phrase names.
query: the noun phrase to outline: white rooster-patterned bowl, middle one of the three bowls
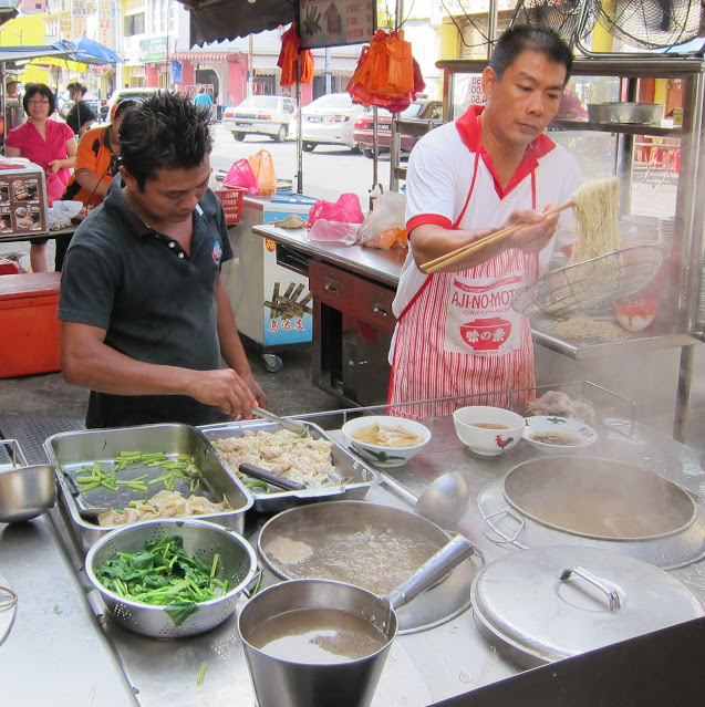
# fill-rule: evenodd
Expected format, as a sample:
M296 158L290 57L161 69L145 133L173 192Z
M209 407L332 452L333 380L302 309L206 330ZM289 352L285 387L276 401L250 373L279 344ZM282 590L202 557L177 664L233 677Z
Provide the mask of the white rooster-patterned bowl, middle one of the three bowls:
M453 413L453 423L460 441L484 457L497 457L511 449L521 439L521 430L526 424L523 417L517 413L487 405L458 408ZM501 427L485 428L477 425Z

